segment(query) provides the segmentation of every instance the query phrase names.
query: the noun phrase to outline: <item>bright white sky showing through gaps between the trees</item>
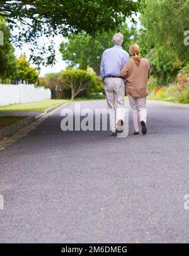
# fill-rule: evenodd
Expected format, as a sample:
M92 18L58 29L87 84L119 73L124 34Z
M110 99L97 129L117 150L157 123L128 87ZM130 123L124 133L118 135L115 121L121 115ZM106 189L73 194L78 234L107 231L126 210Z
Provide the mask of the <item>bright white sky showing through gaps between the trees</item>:
M139 16L137 16L137 17L134 16L134 18L137 21L137 28L140 28ZM127 23L128 23L128 26L132 25L132 23L130 22L129 19L128 19ZM53 38L53 40L55 42L56 64L54 66L47 66L47 67L40 66L40 77L45 76L45 74L47 74L47 73L58 73L64 69L66 69L66 62L62 61L62 55L59 52L59 45L63 40L65 40L65 38L62 37L62 35L57 35ZM29 50L30 47L31 47L31 45L27 45L27 44L23 45L23 47L21 49L14 46L16 57L20 57L20 55L23 52L26 52L26 57L27 57L27 59L29 59L30 54L31 54L31 52ZM32 64L31 64L31 66L35 67L35 65L32 65Z

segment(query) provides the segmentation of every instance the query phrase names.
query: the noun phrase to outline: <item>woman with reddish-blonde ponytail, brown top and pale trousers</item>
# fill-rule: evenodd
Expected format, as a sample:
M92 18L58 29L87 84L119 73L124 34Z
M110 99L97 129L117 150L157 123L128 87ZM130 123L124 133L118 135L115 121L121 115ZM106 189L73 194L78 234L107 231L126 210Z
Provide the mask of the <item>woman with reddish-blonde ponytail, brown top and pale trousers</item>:
M148 95L147 81L151 68L149 61L142 58L139 45L132 44L129 53L133 56L120 71L122 78L126 78L126 90L132 108L132 119L134 122L134 134L139 134L139 120L142 125L142 134L146 134L146 96Z

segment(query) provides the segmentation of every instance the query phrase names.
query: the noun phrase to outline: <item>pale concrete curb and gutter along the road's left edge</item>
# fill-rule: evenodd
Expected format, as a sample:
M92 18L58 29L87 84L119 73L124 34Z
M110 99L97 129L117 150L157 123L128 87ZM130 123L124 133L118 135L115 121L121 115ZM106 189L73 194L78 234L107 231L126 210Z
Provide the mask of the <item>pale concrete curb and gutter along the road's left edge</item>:
M37 117L26 117L26 119L20 120L16 124L12 124L8 127L4 127L0 131L0 140L3 139L3 137L11 136L13 134L13 132L16 132L19 129L25 127L26 125L31 124L32 122L39 119L43 115L47 115L47 113L51 112L52 110L55 110L55 108L59 108L60 106L66 105L66 104L67 104L67 102L59 103L59 104L55 105L54 107L47 108L43 113L41 113L40 115L37 115Z

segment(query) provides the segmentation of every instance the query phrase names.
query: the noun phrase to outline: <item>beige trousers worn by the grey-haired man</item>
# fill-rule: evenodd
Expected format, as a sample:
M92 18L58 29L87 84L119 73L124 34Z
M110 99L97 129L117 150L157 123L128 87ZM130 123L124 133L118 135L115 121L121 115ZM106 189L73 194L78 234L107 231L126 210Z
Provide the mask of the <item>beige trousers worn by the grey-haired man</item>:
M122 78L105 78L104 84L110 114L110 128L115 132L118 120L124 118L125 83Z

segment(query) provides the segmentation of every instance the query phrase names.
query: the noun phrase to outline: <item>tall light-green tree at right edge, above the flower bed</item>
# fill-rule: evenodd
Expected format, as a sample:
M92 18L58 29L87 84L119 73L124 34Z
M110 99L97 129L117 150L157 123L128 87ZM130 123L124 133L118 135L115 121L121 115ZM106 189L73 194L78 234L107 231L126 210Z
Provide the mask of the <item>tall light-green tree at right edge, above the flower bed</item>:
M184 45L184 31L189 22L186 13L189 13L189 0L147 0L146 9L140 15L142 28L137 43L161 84L174 81L189 61L189 48Z

